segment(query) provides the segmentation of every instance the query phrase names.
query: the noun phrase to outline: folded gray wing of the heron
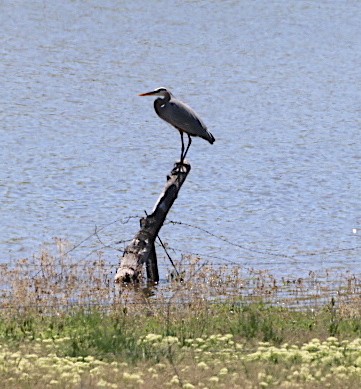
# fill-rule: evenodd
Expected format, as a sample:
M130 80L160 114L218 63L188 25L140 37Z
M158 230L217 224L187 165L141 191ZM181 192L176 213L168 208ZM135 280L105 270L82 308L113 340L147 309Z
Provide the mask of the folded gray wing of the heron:
M157 114L172 126L193 136L207 136L207 127L202 119L187 104L179 100L171 101L158 107Z

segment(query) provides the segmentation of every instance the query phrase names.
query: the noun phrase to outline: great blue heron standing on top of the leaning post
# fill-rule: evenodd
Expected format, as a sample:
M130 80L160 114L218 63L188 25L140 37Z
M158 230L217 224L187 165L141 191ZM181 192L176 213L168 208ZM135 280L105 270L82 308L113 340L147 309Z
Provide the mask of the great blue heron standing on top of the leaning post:
M181 164L187 155L188 149L192 143L191 136L199 136L207 140L210 144L215 141L214 136L207 130L202 119L193 111L191 107L177 100L166 88L157 88L152 92L141 93L139 96L161 96L162 99L154 101L154 109L157 115L174 126L181 135L182 151ZM188 135L188 145L184 152L183 133Z

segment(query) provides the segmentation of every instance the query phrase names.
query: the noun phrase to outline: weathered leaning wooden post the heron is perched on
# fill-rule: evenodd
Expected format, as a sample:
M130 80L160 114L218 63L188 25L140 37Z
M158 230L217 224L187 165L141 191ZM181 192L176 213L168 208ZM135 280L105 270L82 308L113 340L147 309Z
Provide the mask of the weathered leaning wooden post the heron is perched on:
M159 281L154 241L190 170L191 165L188 162L175 164L170 175L167 176L167 183L151 215L140 219L139 232L125 248L115 275L115 282L139 282L142 278L144 264L147 270L147 281L151 283Z

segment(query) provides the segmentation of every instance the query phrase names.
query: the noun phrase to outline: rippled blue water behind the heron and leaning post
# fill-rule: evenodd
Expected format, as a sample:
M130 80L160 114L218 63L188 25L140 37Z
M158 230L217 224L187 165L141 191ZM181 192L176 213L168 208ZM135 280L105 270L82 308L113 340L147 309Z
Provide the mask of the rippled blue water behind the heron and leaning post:
M238 245L167 225L174 259L357 272L360 20L357 1L1 2L0 262L151 211L180 139L137 94L166 86L216 138L169 218ZM116 264L137 229L71 254Z

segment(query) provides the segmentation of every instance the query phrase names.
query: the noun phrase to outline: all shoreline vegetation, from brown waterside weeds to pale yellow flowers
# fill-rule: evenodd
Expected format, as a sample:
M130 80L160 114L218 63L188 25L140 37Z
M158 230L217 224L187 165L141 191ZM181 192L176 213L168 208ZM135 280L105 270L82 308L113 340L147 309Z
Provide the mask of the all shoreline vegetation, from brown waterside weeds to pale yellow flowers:
M296 310L270 304L280 287L267 273L247 279L192 259L188 279L142 290L111 284L101 262L90 269L61 259L43 256L40 272L24 262L2 269L3 387L360 387L355 279L339 285L336 300L326 302L323 288L313 305L304 283L308 303Z

